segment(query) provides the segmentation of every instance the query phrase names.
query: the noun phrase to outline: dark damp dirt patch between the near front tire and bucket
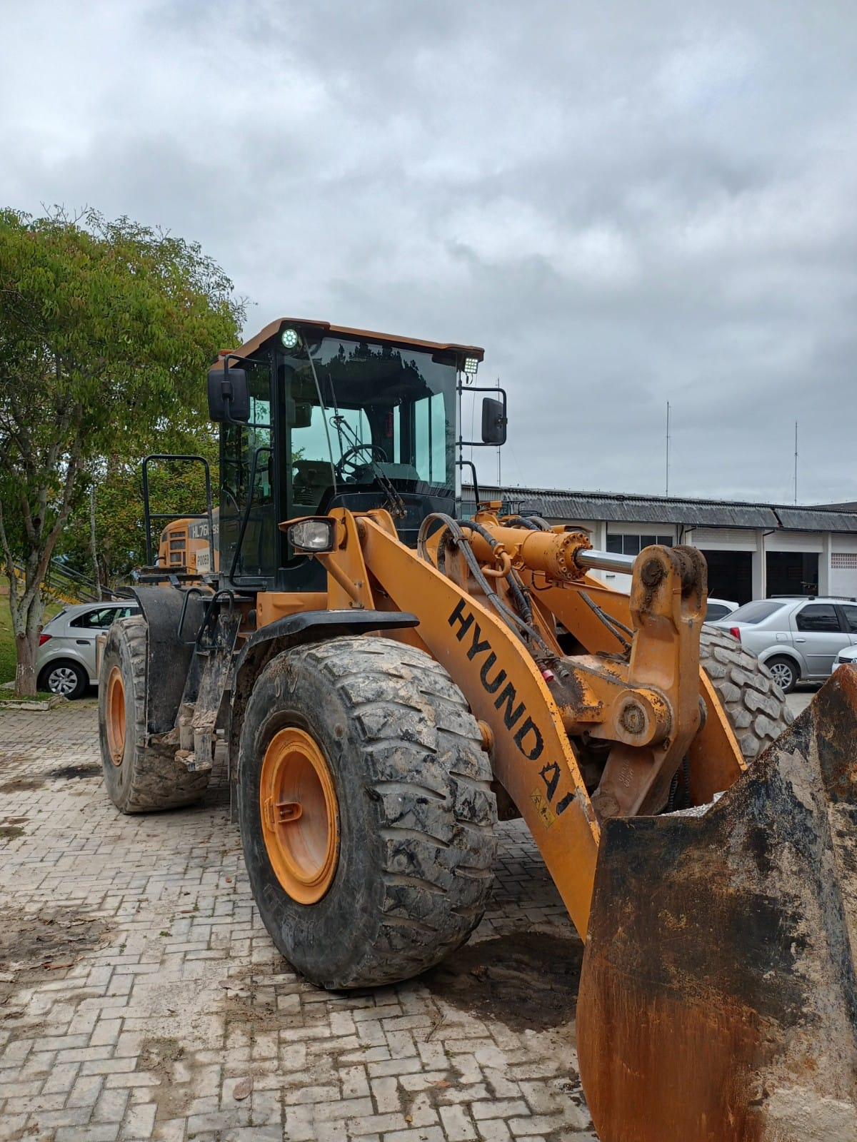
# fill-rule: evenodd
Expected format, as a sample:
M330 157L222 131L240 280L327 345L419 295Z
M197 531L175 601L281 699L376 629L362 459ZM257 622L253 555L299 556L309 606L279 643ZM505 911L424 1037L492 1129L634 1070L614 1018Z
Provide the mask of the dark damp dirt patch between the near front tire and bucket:
M467 944L419 976L433 995L513 1031L546 1031L574 1019L583 944L515 932Z

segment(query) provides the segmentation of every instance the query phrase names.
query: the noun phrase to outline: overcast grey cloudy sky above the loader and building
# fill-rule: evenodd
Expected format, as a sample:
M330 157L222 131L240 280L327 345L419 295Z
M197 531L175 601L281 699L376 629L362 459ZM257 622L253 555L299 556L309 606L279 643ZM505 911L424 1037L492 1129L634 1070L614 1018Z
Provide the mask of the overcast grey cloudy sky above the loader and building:
M799 501L857 500L852 0L0 0L0 204L198 241L248 337L484 346L504 483L663 494L668 402L670 494L792 502L796 423Z

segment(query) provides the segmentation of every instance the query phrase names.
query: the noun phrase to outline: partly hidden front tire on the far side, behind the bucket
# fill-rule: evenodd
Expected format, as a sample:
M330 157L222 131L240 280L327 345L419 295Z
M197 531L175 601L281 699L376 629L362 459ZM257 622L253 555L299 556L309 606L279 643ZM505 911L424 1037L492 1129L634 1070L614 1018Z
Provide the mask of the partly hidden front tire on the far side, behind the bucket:
M720 698L744 761L752 762L794 722L785 692L752 651L716 627L703 626L699 662Z

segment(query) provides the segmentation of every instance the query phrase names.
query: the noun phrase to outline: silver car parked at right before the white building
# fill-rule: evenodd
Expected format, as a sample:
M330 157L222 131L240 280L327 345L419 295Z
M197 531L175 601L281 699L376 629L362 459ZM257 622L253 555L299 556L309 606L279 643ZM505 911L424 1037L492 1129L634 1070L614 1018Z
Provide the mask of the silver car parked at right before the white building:
M712 626L752 650L788 693L800 681L823 682L839 652L857 645L857 600L759 598Z

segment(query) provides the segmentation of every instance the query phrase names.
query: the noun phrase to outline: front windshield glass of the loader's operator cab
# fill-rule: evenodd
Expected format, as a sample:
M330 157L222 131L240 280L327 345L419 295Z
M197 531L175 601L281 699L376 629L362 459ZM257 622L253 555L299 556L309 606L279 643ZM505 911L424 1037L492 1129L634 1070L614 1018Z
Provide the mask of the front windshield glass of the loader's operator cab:
M295 508L310 514L328 489L378 481L451 494L455 365L339 337L311 349L314 370L305 353L287 356L282 369Z

